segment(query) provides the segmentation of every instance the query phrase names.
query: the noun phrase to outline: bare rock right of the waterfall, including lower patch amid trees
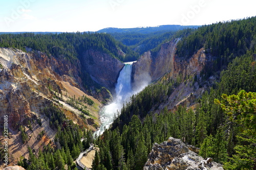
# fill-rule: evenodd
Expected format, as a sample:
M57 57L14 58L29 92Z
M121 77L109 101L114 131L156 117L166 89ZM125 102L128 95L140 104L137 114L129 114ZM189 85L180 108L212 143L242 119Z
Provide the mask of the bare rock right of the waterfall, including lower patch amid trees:
M141 86L145 81L154 82L166 79L182 80L174 92L169 96L167 102L162 103L159 110L167 106L174 109L178 105L189 106L195 98L201 96L205 89L216 80L212 76L204 84L199 85L200 72L205 66L211 67L213 58L205 54L201 48L189 59L176 55L176 46L179 39L175 39L161 45L160 50L153 54L151 51L144 53L133 65L133 87ZM195 76L198 82L194 82Z

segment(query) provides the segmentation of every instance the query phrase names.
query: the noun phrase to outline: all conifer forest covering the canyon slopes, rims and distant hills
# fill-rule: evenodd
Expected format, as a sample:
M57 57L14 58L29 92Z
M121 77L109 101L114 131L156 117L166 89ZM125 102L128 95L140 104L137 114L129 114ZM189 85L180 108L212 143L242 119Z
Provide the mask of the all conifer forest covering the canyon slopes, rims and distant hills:
M99 152L95 154L94 170L141 170L153 143L173 136L200 147L202 157L213 158L225 169L256 169L256 17L150 37L141 33L116 34L115 38L118 36L120 42L103 33L8 34L0 35L0 46L22 50L31 47L71 61L79 59L84 50L94 48L121 61L131 61L146 49L156 52L159 44L181 38L176 53L179 58L187 60L204 47L214 63L204 68L200 78L171 79L165 75L148 85L123 105L112 127L96 139L91 131L82 130L55 106L46 106L41 114L49 118L51 128L57 131L55 140L37 156L28 148L29 159L21 157L19 165L28 170L62 170L65 165L77 169L75 158L90 143L95 143ZM134 48L134 52L121 42L129 46L141 43L145 48L140 48L141 51ZM124 58L118 56L116 46L126 53ZM181 83L202 85L211 75L217 75L219 80L195 101L194 108L179 106L170 111L165 107L160 113L154 111ZM23 127L19 130L23 131ZM26 136L22 138L26 142Z

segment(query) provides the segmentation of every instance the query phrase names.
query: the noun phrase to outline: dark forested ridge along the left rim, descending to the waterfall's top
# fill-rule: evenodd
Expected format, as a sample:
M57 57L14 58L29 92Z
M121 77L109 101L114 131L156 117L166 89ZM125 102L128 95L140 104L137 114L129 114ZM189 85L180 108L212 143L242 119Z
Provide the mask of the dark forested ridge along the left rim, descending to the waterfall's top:
M29 47L32 50L55 57L65 57L71 61L81 57L83 52L90 49L109 54L123 62L134 61L139 57L129 47L104 33L3 34L0 35L0 46L18 48L23 51ZM119 55L119 49L125 53L125 56Z

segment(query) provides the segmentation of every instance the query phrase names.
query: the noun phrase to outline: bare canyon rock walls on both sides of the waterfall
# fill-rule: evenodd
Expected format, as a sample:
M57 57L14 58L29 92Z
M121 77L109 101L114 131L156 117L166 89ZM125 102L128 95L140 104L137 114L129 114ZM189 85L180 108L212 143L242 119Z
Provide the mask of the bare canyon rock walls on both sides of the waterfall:
M175 109L178 105L192 106L195 98L201 96L207 88L207 84L200 88L198 84L193 86L188 84L193 83L194 77L198 76L205 65L211 62L211 57L207 56L204 49L201 48L190 59L181 59L175 54L178 41L179 39L175 39L162 44L160 50L155 54L151 51L144 53L137 62L131 65L131 95L152 82L163 79L188 79L186 84L181 83L175 89L167 102L159 106L159 111L166 106L169 110ZM20 155L28 157L28 145L33 146L34 150L38 152L43 145L54 140L56 131L49 127L49 120L41 114L42 108L53 103L75 124L96 131L100 126L100 120L104 122L105 118L102 114L100 119L100 108L112 100L113 103L115 100L121 101L117 98L116 86L118 86L118 77L121 75L121 70L125 68L125 64L109 54L87 50L80 60L69 61L31 49L27 49L27 51L25 53L14 48L0 48L0 62L3 65L0 72L1 116L8 115L10 117L9 142L12 143L10 152L13 164L17 162ZM88 92L83 86L83 71L86 71L90 78L103 88L97 91L96 87L92 85L91 91ZM129 91L124 93L126 95ZM125 100L131 95L126 96ZM90 115L81 116L83 113L71 106L68 101L72 98L79 100L84 96L91 99L94 105L80 104L90 113ZM119 111L124 102L119 104ZM117 108L117 106L115 107ZM116 108L112 110L116 111ZM109 124L114 118L113 114L111 116L108 118L108 121L111 120ZM22 144L20 132L17 129L20 124L27 125L34 119L40 119L42 126L34 124L32 130L26 128L29 140ZM3 122L3 120L1 121ZM46 134L40 141L37 141L36 137L42 130ZM103 130L104 126L101 126L100 133Z

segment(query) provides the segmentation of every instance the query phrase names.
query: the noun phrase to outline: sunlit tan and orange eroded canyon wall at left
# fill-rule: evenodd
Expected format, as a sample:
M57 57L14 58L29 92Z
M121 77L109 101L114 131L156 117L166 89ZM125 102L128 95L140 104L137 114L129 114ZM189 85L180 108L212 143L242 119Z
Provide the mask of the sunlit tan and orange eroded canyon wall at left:
M53 104L60 108L69 119L81 127L95 130L99 126L98 110L101 103L84 93L81 87L80 62L71 63L64 58L47 56L41 52L25 53L11 48L0 48L0 123L8 115L10 164L17 162L20 156L28 157L27 147L42 150L44 145L54 141L56 131L50 128L49 119L41 109ZM93 106L80 102L79 107L86 108L91 116L71 106L68 101L90 98ZM96 119L95 119L96 117ZM37 121L41 120L41 126ZM28 123L32 127L28 127ZM23 144L20 125L25 127L29 136ZM32 129L32 130L31 130ZM45 136L38 141L38 134L44 130ZM3 141L3 136L0 137Z

